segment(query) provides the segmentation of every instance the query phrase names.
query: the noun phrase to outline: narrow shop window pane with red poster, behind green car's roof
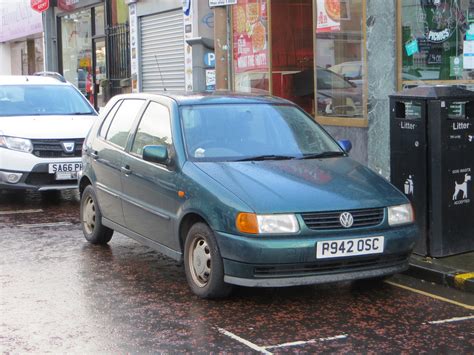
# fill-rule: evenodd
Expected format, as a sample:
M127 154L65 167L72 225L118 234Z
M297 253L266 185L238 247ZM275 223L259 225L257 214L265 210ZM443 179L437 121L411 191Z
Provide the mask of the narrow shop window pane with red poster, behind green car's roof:
M234 89L270 91L267 0L238 0L232 6Z

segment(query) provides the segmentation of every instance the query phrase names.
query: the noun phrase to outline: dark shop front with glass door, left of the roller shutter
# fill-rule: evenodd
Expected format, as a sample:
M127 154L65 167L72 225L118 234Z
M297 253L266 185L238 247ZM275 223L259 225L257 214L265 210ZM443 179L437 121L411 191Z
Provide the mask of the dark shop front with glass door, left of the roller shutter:
M97 108L128 92L130 52L124 0L58 0L59 71Z

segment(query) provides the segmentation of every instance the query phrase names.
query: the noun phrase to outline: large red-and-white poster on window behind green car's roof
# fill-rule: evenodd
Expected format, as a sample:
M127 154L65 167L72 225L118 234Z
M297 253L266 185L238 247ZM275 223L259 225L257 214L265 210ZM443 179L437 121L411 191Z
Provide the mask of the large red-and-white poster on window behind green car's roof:
M266 0L239 0L232 7L235 72L268 69Z

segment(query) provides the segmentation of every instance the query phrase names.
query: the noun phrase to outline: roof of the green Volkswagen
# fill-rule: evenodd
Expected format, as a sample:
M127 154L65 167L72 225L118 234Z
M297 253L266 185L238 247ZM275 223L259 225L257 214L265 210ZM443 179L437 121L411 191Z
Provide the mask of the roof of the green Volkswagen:
M268 94L250 94L234 91L214 91L214 92L181 92L163 91L160 93L140 93L124 94L116 98L145 98L153 99L159 97L170 98L180 106L189 105L212 105L212 104L291 104L292 102Z

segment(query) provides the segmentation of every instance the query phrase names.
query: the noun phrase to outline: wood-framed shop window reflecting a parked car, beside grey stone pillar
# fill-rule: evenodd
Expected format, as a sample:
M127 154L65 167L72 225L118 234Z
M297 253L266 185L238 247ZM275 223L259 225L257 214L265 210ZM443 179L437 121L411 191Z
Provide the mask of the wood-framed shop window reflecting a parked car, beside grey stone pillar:
M365 0L315 3L316 118L324 124L366 126Z

